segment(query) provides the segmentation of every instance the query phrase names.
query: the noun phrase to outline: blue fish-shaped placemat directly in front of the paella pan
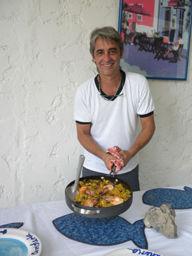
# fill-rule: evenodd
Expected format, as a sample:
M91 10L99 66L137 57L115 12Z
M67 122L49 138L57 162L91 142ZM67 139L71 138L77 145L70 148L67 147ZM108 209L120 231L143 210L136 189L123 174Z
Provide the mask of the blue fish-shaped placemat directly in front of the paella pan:
M70 213L52 223L61 234L81 243L109 246L131 240L139 248L148 248L143 220L131 224L119 216L92 219Z

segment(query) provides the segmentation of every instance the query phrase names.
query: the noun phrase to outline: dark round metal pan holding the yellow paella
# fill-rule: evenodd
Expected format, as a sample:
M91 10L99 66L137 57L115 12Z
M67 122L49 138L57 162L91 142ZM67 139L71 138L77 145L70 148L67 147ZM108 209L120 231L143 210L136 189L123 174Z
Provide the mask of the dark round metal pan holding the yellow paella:
M112 176L86 176L86 177L82 177L79 180L100 180L100 179L106 179L106 180L111 180L112 182L115 182L117 179L116 177L112 177ZM122 183L123 186L129 190L131 190L131 194L132 194L132 188L129 184L127 184L127 182L125 182L124 180L118 179L119 183ZM113 217L113 216L117 216L118 214L122 214L123 212L127 211L127 209L129 209L129 207L132 204L132 195L131 197L123 202L122 204L118 204L118 205L113 205L110 207L87 207L84 205L80 205L77 204L76 202L74 202L74 198L70 195L70 193L68 193L68 191L70 190L69 187L73 186L75 183L75 180L70 182L70 184L68 184L67 188L65 189L65 201L67 203L67 206L74 212L76 212L77 214L81 214L82 216L86 216L88 218L109 218L109 217Z

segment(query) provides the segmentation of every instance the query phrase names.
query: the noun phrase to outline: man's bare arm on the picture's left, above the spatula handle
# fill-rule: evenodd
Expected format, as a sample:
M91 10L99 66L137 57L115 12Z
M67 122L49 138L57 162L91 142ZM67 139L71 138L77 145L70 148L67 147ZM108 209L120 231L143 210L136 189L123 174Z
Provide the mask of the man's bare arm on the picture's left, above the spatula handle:
M81 145L93 155L99 157L106 164L106 168L109 170L109 162L115 160L111 154L106 154L99 145L93 140L90 134L91 124L77 124L77 138Z

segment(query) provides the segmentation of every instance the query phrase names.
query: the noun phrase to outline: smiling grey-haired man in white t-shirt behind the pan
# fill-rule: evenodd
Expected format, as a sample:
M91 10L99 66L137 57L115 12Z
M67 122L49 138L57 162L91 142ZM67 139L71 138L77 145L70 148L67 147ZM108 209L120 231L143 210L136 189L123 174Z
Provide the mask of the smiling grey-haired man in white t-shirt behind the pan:
M124 159L119 179L127 181L133 191L140 190L138 151L155 130L154 103L147 79L120 70L124 44L112 27L92 31L90 52L99 74L77 89L74 108L77 138L84 147L83 177L107 175L116 157L106 150L117 145ZM142 129L137 136L138 116Z

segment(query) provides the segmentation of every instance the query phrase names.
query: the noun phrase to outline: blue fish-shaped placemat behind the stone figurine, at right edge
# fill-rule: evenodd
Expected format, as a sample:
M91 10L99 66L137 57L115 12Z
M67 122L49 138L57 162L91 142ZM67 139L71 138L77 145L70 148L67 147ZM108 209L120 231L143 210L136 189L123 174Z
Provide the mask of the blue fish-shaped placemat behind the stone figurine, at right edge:
M192 208L192 188L184 190L172 188L150 189L143 194L143 204L160 207L162 204L171 204L172 209Z

